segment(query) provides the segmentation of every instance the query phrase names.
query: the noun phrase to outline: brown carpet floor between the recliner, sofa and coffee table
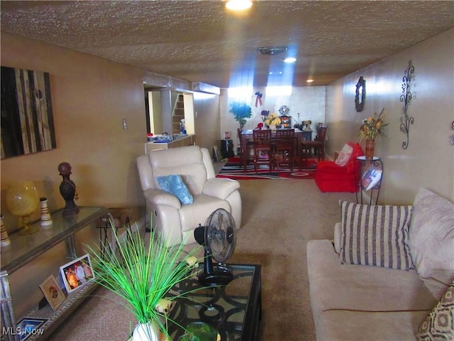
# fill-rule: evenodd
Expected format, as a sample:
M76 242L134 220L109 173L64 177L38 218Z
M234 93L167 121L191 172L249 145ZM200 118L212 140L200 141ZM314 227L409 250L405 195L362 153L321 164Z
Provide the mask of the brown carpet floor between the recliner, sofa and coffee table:
M341 220L338 200L354 202L355 194L321 193L314 180L283 179L278 186L240 180L240 185L242 227L227 263L262 265L259 340L314 341L306 243L333 239L334 224ZM128 340L135 319L121 303L104 288L96 289L48 340Z

